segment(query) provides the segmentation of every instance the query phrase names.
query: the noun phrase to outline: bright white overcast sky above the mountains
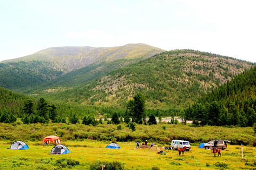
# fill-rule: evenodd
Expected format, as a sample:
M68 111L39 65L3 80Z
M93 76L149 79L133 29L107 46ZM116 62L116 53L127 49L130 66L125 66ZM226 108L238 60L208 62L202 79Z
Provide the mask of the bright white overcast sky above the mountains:
M256 62L256 1L0 0L0 61L61 46L143 43Z

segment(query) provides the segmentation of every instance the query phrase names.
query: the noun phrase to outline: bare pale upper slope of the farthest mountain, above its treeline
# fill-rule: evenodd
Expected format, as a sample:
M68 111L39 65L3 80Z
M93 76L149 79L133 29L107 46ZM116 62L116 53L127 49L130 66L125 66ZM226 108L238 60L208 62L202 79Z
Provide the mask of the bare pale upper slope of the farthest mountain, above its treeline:
M145 59L153 55L164 52L163 49L149 46L146 44L127 44L119 47L52 47L41 50L35 54L13 60L3 61L46 61L52 62L61 69L65 67L67 71L79 69L90 64L99 64L103 61L110 62L121 58Z

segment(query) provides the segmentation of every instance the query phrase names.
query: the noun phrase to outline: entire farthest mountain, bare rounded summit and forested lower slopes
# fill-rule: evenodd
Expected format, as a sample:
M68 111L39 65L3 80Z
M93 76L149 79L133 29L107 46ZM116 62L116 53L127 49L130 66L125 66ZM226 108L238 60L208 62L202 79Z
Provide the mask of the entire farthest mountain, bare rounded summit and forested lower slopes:
M164 50L145 44L47 48L32 55L2 61L0 86L22 94L47 86L75 86L161 52Z

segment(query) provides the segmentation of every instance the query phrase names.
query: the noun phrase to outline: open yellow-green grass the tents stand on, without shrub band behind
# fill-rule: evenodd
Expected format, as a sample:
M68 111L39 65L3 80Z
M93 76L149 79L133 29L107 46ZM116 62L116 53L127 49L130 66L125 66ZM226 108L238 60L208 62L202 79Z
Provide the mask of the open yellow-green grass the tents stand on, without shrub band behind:
M41 146L38 142L26 141L29 149L10 150L11 143L0 141L0 169L89 169L96 161L118 161L124 163L125 169L253 169L256 165L256 148L244 146L242 160L241 146L228 145L221 151L221 157L210 157L210 150L199 149L192 145L184 156L177 151L166 150L166 155L157 155L148 149L135 150L134 142L118 142L121 149L105 148L109 141L65 141L63 145L70 150L66 155L49 155L53 146ZM75 166L57 163L58 159L67 158L79 162Z

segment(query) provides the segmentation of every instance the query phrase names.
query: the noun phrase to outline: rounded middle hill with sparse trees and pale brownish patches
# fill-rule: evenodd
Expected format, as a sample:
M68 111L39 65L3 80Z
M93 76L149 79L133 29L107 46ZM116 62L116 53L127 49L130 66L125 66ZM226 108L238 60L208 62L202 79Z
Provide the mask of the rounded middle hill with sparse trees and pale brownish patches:
M252 65L195 50L173 50L111 71L79 88L62 92L51 89L38 94L64 103L125 107L131 97L142 92L147 108L180 108L194 103Z

